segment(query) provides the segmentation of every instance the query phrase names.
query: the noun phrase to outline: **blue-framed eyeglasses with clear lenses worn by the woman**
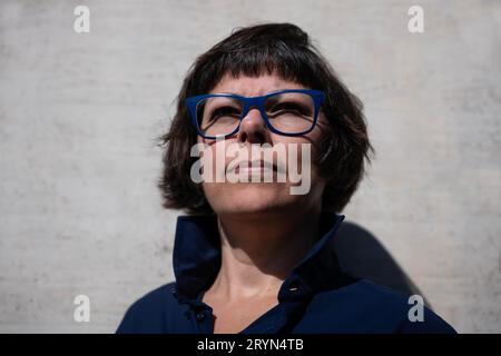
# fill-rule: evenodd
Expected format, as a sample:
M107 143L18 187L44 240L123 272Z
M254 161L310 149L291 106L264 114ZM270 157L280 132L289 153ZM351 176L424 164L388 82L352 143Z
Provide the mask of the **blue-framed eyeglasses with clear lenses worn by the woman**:
M242 120L257 107L266 127L277 135L301 136L316 125L325 93L310 89L285 89L261 97L209 93L186 99L191 123L206 139L238 132Z

